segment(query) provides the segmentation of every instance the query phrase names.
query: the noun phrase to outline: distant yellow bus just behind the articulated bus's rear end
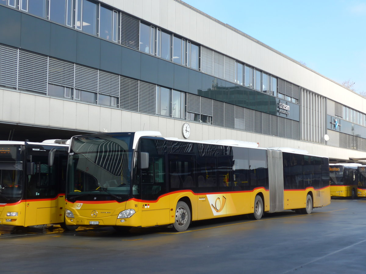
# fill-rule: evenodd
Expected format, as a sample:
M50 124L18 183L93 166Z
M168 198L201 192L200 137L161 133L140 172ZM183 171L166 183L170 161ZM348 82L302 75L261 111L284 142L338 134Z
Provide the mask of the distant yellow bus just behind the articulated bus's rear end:
M329 164L330 196L357 197L358 167L361 164Z

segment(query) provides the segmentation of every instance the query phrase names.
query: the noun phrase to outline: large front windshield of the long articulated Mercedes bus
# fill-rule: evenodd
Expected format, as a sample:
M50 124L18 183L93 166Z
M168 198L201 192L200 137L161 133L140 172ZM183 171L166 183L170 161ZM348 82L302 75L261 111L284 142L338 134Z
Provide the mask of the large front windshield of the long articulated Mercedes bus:
M73 138L67 198L126 200L131 191L132 140L132 134Z

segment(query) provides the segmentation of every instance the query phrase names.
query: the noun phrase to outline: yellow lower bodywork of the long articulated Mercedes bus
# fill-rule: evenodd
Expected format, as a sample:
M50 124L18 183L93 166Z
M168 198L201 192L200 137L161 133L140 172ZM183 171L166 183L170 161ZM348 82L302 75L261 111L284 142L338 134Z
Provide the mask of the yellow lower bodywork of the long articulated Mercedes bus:
M314 190L312 187L306 190L285 190L284 210L305 208L307 194L312 196L314 208L329 205L329 193L329 187L320 190ZM116 201L67 202L66 208L71 210L74 218L66 217L65 219L67 225L153 227L175 222L175 208L178 201L184 201L190 206L191 220L197 221L253 213L257 195L262 197L264 211L268 212L270 210L269 191L259 187L250 191L221 193L193 193L180 190L162 195L156 201L130 199L121 203ZM134 209L136 213L130 218L117 219L118 214L126 209Z

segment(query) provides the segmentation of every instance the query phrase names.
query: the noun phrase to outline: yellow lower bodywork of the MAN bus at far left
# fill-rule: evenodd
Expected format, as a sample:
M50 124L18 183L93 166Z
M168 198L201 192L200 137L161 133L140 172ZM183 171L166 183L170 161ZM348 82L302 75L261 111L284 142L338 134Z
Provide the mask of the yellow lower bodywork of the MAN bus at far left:
M21 200L0 205L0 224L29 227L33 225L57 224L64 221L65 195L53 199ZM17 212L18 216L7 216Z

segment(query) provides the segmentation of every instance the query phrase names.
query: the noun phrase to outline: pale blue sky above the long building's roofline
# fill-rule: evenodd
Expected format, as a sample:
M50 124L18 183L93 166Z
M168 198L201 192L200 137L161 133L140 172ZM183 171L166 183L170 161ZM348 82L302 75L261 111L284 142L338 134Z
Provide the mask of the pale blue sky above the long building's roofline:
M366 0L183 0L338 83L366 92Z

